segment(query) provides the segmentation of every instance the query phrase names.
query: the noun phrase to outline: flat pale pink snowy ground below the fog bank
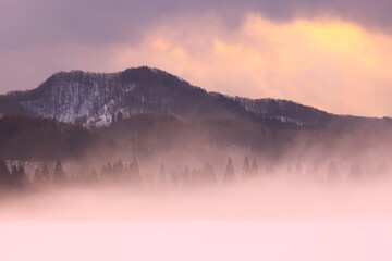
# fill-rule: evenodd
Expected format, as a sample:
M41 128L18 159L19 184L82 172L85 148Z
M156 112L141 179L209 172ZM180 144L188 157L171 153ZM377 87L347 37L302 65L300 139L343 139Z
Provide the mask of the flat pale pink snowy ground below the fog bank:
M1 223L2 260L391 260L392 224Z

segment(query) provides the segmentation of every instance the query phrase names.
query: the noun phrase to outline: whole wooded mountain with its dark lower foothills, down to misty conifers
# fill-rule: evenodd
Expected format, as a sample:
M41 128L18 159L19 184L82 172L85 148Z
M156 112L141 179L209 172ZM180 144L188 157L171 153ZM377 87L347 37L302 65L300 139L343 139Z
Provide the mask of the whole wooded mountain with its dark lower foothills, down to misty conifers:
M293 101L208 92L167 72L60 72L0 96L0 158L107 161L120 154L243 149L265 157L384 148L392 120L335 115ZM293 151L294 150L294 151Z

